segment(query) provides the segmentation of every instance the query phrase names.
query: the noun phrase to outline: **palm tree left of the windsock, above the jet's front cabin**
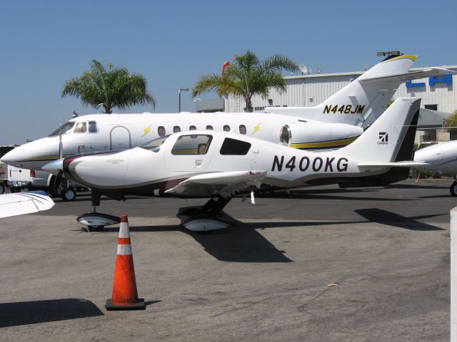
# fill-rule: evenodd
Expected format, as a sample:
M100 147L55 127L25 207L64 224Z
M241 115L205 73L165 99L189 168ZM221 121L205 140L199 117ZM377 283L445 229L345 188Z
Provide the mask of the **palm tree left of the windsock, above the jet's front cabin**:
M108 63L108 70L99 61L92 60L91 70L84 71L79 78L66 81L61 96L81 98L83 105L94 108L104 106L104 113L112 109L130 108L133 105L151 104L156 107L154 95L146 90L146 79L139 73L130 73L126 68L114 68Z

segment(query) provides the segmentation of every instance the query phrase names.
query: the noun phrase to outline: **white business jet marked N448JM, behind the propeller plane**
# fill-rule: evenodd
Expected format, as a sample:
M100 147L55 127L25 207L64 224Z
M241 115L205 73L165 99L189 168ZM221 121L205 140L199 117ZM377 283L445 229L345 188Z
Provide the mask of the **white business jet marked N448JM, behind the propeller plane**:
M196 129L231 131L300 149L334 149L356 140L363 128L383 113L402 82L453 73L443 68L408 73L414 61L416 56L390 56L316 107L272 109L286 114L293 112L296 116L274 113L84 115L69 120L48 138L15 148L1 160L16 167L39 170L47 162L59 159L59 131L66 156L125 150L170 133Z

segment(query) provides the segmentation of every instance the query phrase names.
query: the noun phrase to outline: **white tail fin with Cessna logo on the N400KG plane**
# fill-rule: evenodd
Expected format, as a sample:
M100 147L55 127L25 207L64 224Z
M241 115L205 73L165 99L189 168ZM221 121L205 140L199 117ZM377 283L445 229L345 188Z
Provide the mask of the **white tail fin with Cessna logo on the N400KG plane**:
M412 160L420 105L420 98L398 98L356 141L338 152L380 165Z

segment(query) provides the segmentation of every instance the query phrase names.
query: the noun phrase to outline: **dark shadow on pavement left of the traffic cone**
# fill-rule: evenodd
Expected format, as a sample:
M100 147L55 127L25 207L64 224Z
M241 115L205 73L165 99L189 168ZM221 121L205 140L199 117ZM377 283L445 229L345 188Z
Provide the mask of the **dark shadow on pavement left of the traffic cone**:
M104 314L91 301L79 298L0 304L0 328L95 316Z

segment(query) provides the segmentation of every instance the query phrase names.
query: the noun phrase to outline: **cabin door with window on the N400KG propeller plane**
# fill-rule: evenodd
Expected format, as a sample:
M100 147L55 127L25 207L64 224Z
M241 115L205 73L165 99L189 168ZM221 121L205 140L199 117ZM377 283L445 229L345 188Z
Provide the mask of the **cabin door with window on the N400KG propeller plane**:
M206 170L215 145L211 134L180 135L165 151L165 167L181 172Z

